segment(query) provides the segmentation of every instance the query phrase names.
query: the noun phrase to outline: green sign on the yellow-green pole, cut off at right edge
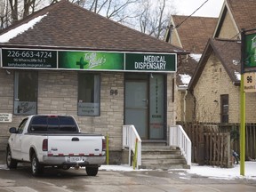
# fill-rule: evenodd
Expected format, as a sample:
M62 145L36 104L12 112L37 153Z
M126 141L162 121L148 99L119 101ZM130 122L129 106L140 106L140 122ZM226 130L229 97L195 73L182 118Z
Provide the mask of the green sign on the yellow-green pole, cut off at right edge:
M245 36L244 68L256 67L256 34Z

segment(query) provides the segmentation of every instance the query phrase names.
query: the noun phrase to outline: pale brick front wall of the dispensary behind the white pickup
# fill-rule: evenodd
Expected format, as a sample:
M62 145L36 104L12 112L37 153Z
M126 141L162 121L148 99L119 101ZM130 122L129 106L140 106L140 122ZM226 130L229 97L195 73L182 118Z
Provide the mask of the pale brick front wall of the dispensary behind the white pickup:
M167 124L174 124L175 121L175 103L172 102L173 78L174 74L168 74ZM0 113L13 112L13 80L13 71L11 75L6 75L5 70L0 69ZM117 94L111 95L110 90L117 90ZM100 116L77 116L77 72L39 70L37 113L72 115L82 132L108 134L109 150L112 153L120 152L124 124L124 73L100 73ZM13 115L12 123L0 124L0 150L5 149L9 128L17 127L23 117Z

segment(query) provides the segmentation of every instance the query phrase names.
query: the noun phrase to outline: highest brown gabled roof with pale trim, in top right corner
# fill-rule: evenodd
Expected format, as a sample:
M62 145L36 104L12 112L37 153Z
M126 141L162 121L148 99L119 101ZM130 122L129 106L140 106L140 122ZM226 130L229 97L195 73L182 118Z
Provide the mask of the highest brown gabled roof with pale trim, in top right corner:
M222 10L220 12L220 18L218 21L218 27L215 29L214 36L219 36L220 28L228 12L231 15L231 19L237 28L237 33L244 29L256 28L256 1L255 0L225 0Z

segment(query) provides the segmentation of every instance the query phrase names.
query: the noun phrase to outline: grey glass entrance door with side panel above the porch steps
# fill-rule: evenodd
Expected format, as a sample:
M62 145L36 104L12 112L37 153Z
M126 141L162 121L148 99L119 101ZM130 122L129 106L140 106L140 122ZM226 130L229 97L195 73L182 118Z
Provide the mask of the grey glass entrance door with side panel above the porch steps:
M164 140L164 75L125 76L124 124L133 124L143 140Z

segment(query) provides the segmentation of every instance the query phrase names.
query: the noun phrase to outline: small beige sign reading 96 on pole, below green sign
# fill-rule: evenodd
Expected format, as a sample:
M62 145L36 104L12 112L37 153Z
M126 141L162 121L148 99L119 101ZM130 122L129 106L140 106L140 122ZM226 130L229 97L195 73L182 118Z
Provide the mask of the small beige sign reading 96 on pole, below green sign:
M244 73L244 92L256 92L256 72Z

